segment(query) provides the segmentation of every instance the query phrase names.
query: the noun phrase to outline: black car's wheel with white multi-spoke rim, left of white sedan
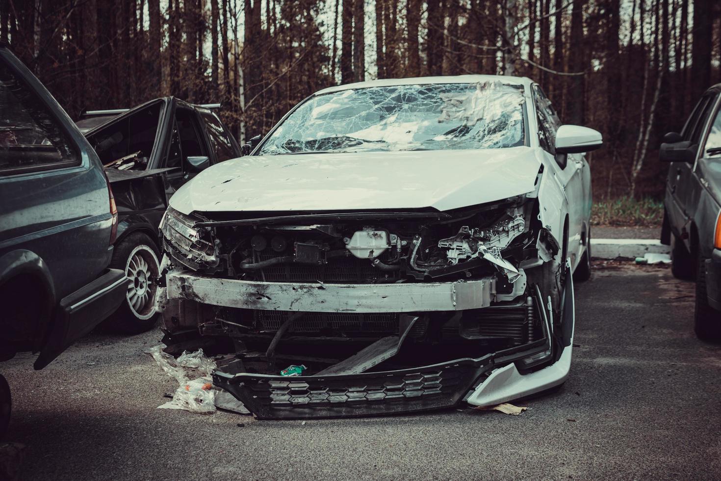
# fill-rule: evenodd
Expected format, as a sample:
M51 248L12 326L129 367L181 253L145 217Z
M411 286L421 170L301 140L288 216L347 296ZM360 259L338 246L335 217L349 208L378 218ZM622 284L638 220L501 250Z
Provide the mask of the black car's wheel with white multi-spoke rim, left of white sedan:
M110 330L139 334L151 330L157 320L155 296L160 272L158 248L147 234L130 234L115 246L110 267L131 279L125 301L107 321Z

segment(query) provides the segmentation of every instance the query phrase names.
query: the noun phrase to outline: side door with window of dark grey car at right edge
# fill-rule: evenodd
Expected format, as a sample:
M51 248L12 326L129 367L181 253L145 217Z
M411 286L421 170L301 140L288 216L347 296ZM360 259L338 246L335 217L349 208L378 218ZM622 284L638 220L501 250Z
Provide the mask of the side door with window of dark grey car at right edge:
M718 95L714 93L705 94L686 121L681 137L684 141L690 141L692 146L698 146L701 142L717 97ZM690 248L690 239L684 234L688 234L689 222L696 206L694 198L696 200L698 198L698 182L693 173L694 164L695 159L692 162L671 162L667 177L667 196L671 198L671 202L666 206L666 213L671 226L681 234L687 248Z

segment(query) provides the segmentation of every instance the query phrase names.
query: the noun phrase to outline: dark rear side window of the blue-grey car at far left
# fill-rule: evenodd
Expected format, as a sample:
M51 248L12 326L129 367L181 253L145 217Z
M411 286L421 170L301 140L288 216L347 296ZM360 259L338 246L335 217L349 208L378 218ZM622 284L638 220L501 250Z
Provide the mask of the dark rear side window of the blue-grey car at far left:
M0 61L0 175L80 164L48 106Z

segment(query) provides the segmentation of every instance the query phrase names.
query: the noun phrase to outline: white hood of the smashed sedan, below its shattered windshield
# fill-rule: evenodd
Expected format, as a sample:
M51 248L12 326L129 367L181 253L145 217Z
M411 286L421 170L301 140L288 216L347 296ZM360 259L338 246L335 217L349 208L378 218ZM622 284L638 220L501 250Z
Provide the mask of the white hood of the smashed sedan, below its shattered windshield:
M340 211L492 202L534 190L539 148L244 156L205 169L170 206L193 211Z

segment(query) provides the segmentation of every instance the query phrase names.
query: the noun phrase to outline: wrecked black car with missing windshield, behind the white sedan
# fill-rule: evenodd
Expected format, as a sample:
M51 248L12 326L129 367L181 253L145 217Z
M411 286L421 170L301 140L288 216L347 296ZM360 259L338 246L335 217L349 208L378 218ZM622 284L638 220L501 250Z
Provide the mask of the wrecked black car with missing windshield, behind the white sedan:
M212 164L241 156L213 109L175 97L128 110L86 112L78 120L110 179L120 221L110 266L132 283L109 319L116 330L137 333L156 322L160 271L158 226L167 201L181 185Z

